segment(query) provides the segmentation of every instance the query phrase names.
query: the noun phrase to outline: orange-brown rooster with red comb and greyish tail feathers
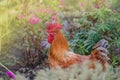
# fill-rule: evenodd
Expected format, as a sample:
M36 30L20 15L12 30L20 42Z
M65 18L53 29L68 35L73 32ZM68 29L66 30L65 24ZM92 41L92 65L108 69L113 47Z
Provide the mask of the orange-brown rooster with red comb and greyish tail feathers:
M50 51L48 54L48 60L50 68L67 68L73 64L82 64L85 61L95 62L98 61L102 64L103 70L106 69L105 64L109 60L107 56L108 42L105 39L100 40L92 49L90 55L79 55L69 51L69 45L66 38L61 33L62 26L59 23L49 23L47 25L48 42L50 45ZM89 65L90 68L95 68L94 64Z

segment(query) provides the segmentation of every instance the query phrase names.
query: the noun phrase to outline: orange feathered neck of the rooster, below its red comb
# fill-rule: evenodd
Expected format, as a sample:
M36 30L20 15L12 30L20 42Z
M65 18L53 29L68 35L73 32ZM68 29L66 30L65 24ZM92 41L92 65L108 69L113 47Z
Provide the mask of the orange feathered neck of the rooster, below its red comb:
M50 46L50 55L54 56L55 58L62 58L68 50L69 46L66 38L60 31L58 31L54 36L54 40Z

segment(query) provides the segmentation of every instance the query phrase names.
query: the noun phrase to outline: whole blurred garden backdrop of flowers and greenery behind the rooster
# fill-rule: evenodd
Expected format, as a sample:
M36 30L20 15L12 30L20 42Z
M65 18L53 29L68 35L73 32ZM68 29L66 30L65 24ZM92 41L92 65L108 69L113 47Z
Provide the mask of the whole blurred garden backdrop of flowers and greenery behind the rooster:
M111 64L120 65L119 0L0 0L0 62L13 70L49 67L46 23L53 14L72 51L88 55L104 38Z

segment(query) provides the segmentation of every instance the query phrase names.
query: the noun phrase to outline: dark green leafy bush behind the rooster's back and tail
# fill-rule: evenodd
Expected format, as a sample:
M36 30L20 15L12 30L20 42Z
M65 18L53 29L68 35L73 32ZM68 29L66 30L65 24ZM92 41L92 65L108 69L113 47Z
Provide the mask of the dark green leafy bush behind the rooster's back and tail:
M90 54L92 46L102 38L109 41L109 49L120 47L119 13L113 13L111 9L102 7L92 12L84 12L80 18L73 20L72 23L76 24L77 29L74 30L70 45L76 53Z

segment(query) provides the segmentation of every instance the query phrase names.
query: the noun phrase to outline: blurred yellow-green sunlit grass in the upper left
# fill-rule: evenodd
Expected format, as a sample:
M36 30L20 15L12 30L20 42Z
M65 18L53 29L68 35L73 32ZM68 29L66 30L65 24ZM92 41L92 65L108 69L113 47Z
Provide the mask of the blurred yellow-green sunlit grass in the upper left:
M10 45L13 44L15 40L19 40L17 38L18 36L26 35L26 32L24 32L25 27L31 28L35 32L38 32L40 28L45 27L45 22L51 15L50 13L47 13L47 7L51 10L59 11L59 8L57 7L59 1L52 0L49 3L48 1L49 0L0 1L0 54L9 50ZM41 9L43 11L39 12ZM41 23L30 25L28 19L30 18L31 13L37 15L41 19ZM24 15L25 19L19 20L18 16L20 14ZM22 39L23 37L19 38Z

